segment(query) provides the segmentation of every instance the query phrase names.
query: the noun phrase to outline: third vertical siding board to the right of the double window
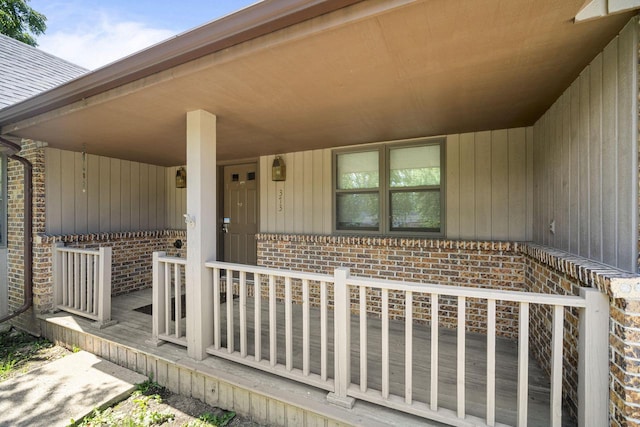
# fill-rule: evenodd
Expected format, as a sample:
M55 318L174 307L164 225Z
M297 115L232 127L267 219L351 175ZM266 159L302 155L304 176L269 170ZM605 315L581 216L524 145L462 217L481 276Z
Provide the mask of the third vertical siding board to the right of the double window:
M476 236L491 238L491 132L476 134Z

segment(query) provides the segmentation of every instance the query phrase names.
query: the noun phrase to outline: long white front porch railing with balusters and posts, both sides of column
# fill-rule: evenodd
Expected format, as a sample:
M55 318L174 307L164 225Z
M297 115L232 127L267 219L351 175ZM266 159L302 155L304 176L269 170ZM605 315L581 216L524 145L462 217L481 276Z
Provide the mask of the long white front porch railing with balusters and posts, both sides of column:
M155 298L156 289L166 286L169 263L184 265L184 260L157 256L154 254L154 328L160 322L156 304L166 300ZM165 279L156 281L156 266L160 270L164 264ZM562 423L563 384L563 336L564 312L566 308L577 308L580 316L578 367L580 386L579 417L582 420L598 420L594 425L608 422L606 390L608 381L607 365L607 325L608 302L606 296L597 290L583 289L580 296L557 296L525 292L496 291L471 287L416 284L400 281L353 278L348 269L336 269L333 276L268 269L263 267L208 262L213 283L213 345L207 353L217 357L262 369L295 381L310 384L330 391L329 400L341 406L350 407L353 399L362 399L379 405L405 411L439 422L458 426L502 426L496 421L496 301L511 301L519 307L519 340L517 403L517 425L526 426L528 418L529 393L529 311L531 305L546 306L552 313L551 352L551 396L550 426ZM178 270L175 270L174 281ZM165 282L161 282L165 280ZM374 356L367 345L367 305L372 291L380 294L381 348L375 355L381 362L380 386L368 384L371 378L367 361ZM168 291L166 291L168 294ZM232 295L237 295L234 304ZM369 294L369 300L367 300ZM404 393L394 394L390 387L389 369L389 323L390 294L396 307L404 311ZM221 295L226 301L221 302ZM296 304L294 304L294 295ZM438 402L438 372L441 363L438 358L439 302L445 298L457 300L456 332L456 396L457 407L444 408ZM253 313L248 302L253 299ZM400 300L398 303L398 299ZM420 304L417 301L420 299ZM467 300L484 301L487 306L486 322L486 387L484 417L470 415L465 407L465 390L472 387L465 377L466 354L466 307ZM301 301L301 304L300 304ZM430 378L425 378L429 386L430 401L416 401L413 398L414 325L416 307L425 310L425 301L431 313L430 335ZM316 306L319 315L312 315L311 307ZM330 310L333 308L333 310ZM280 310L280 311L278 311ZM235 312L234 312L235 311ZM263 311L265 313L263 313ZM166 312L165 312L166 313ZM201 315L201 313L188 313ZM263 325L266 314L267 326ZM177 316L176 316L177 317ZM166 314L165 314L166 319ZM352 348L351 324L359 323L359 351ZM332 325L333 323L333 325ZM225 327L222 327L222 325ZM294 337L293 325L302 325L301 337ZM284 330L284 333L278 333ZM282 328L284 326L284 328ZM424 328L424 326L420 326ZM320 331L319 342L312 342L311 330ZM154 329L155 331L155 329ZM155 332L154 332L155 333ZM157 334L160 340L176 342L168 334ZM251 341L252 340L252 341ZM186 345L186 340L179 340ZM300 344L301 341L301 344ZM252 348L250 349L250 344ZM278 348L284 347L284 352ZM604 348L605 351L601 351ZM251 351L250 351L251 350ZM294 356L302 353L302 362L294 365ZM329 360L333 353L333 360ZM359 356L357 356L359 353ZM284 355L283 355L284 354ZM298 356L296 356L298 357ZM369 359L368 359L369 358ZM299 360L299 359L296 359ZM359 365L357 382L352 381L351 366ZM588 373L588 374L587 374Z

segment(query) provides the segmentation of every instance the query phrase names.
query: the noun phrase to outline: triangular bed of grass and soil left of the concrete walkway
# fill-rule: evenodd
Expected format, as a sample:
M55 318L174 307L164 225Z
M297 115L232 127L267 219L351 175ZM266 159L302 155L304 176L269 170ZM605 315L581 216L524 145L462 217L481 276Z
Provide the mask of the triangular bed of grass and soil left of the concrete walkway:
M68 353L52 342L10 328L0 331L0 381L37 368Z

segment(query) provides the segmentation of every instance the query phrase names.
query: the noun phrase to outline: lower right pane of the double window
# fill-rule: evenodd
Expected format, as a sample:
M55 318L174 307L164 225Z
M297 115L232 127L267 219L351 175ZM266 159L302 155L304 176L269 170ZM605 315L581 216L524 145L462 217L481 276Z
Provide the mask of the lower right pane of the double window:
M392 192L391 229L440 231L440 191Z

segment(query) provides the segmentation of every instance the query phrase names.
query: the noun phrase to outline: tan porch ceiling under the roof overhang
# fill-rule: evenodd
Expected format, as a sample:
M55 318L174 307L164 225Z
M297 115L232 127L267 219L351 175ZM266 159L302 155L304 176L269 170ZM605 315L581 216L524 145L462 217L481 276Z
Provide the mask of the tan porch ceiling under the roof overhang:
M574 24L583 3L362 2L0 125L167 166L195 109L218 116L220 160L527 126L633 15Z

